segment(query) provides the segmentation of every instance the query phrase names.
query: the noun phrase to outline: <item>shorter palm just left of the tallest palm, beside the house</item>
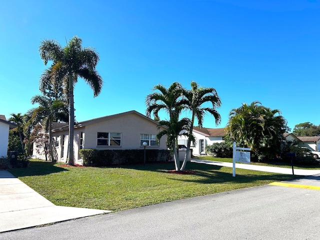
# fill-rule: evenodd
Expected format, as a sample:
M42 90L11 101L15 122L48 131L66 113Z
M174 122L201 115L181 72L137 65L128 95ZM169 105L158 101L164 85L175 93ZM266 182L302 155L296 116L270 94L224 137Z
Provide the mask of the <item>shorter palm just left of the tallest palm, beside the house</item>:
M49 135L49 148L51 161L55 161L53 154L53 143L52 143L52 122L67 119L67 107L66 103L59 100L51 100L47 96L35 95L31 98L31 103L38 103L39 106L31 109L32 117L31 122L36 123L42 120L42 125L45 131Z

